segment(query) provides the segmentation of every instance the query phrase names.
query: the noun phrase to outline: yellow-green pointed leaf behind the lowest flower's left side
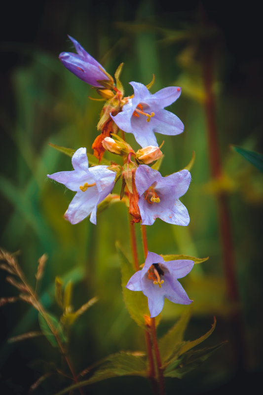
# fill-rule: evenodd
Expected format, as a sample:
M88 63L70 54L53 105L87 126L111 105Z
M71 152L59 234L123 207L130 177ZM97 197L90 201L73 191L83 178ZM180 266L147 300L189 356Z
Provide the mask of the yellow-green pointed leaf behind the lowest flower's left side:
M144 315L150 316L147 297L141 291L131 291L126 288L129 279L134 274L134 270L132 263L126 257L117 242L116 249L121 263L121 287L124 303L131 318L145 329Z

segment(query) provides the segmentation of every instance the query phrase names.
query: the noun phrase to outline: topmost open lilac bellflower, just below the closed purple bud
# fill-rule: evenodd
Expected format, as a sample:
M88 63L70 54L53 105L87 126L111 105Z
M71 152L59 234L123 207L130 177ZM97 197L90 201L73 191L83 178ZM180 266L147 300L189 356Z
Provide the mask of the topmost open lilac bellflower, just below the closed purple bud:
M154 133L178 135L184 131L183 122L164 107L175 102L181 88L169 86L151 94L147 87L139 82L130 82L134 97L122 107L122 111L112 116L117 126L127 133L133 133L142 147L158 145Z

